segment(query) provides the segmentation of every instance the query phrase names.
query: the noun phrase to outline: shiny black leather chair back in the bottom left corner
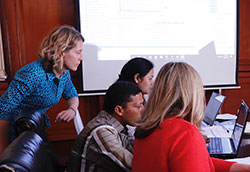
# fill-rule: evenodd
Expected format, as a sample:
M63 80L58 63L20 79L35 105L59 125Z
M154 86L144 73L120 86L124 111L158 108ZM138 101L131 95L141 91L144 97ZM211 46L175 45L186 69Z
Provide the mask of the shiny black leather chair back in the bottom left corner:
M0 155L0 171L60 172L51 148L33 131L23 131Z

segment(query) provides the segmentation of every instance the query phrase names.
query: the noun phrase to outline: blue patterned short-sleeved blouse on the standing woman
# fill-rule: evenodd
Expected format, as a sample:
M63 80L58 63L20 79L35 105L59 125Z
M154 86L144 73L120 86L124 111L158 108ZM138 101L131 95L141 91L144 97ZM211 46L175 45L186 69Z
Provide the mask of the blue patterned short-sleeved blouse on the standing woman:
M47 118L46 110L57 104L61 96L65 100L77 97L69 71L58 79L53 72L45 72L42 59L19 69L0 97L0 119L10 122L10 140L14 139L13 122L21 112L38 110Z

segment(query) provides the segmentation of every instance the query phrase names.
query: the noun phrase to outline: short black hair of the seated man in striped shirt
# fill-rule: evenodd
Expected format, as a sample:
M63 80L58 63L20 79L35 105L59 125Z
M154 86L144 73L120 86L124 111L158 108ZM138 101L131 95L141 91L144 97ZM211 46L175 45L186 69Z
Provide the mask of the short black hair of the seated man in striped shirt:
M106 112L112 114L115 106L120 105L126 108L128 102L131 101L131 96L142 93L137 84L129 81L118 81L112 84L104 97L104 108Z

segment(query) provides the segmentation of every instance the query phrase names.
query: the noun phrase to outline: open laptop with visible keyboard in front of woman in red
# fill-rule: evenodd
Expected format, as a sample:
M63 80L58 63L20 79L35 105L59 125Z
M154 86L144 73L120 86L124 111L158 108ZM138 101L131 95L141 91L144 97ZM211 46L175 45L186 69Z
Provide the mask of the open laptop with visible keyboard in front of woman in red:
M232 132L232 136L229 138L210 138L210 142L207 144L207 149L211 157L223 159L237 157L248 115L249 108L244 102L244 100L242 100L234 125L234 130Z

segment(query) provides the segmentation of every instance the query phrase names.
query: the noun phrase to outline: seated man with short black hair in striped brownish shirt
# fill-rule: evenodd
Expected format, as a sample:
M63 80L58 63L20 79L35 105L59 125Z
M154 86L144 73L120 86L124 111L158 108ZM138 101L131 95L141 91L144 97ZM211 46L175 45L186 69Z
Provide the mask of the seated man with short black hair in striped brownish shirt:
M76 138L68 171L131 171L134 137L126 125L135 126L142 109L142 91L135 83L111 85L103 111Z

